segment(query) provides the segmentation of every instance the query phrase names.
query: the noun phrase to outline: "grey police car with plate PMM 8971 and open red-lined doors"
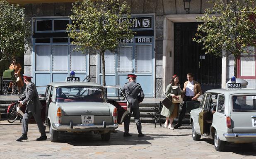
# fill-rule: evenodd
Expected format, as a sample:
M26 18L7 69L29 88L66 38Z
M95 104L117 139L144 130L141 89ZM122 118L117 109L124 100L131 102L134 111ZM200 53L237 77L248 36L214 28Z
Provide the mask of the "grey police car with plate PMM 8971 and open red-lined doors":
M112 96L107 99L106 90ZM94 132L108 141L111 131L130 113L126 98L117 86L91 82L54 82L47 85L45 125L50 128L50 140L56 142L59 132ZM45 103L43 103L45 102ZM43 113L44 111L42 111Z

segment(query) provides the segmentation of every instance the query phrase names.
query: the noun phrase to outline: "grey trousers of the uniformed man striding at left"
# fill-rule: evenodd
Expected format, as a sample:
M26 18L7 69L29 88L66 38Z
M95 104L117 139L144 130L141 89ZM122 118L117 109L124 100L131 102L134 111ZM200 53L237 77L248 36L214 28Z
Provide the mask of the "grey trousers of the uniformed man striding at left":
M25 112L24 117L22 119L22 133L26 134L28 133L28 127L29 127L29 119L34 116L34 119L36 121L36 124L39 128L39 131L41 133L41 136L45 136L45 126L43 126L43 122L41 120L41 109L40 111L37 111L36 114L35 113L31 113L31 112Z

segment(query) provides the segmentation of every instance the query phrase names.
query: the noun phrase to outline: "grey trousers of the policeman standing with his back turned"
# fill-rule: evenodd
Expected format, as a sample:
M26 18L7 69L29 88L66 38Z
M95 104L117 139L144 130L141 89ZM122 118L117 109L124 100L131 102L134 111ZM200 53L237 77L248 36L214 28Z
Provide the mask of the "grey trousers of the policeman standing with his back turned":
M140 109L138 108L131 108L131 112L133 112L134 120L137 126L138 133L141 133L141 121L140 121ZM124 132L129 133L129 126L130 126L130 116L127 116L126 120L124 121Z

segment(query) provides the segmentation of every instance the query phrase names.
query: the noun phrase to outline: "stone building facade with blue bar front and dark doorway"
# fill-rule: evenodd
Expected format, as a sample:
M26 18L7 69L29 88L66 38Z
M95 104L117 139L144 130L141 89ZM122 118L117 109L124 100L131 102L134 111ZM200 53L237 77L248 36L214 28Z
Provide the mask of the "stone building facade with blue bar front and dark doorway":
M34 76L36 85L64 81L70 71L81 79L91 75L93 82L101 83L101 58L74 52L65 32L73 1L9 0L23 5L31 21L33 35L24 54L24 72ZM131 28L137 34L122 41L118 52L106 52L106 85L123 85L126 74L134 73L146 97L163 97L173 74L180 76L183 86L186 74L193 72L203 90L225 87L234 74L234 59L205 55L203 46L192 40L200 23L196 17L203 16L212 4L207 0L191 0L189 7L183 0L126 2L138 20ZM249 88L256 88L255 67L255 55L239 59L238 77L248 81Z

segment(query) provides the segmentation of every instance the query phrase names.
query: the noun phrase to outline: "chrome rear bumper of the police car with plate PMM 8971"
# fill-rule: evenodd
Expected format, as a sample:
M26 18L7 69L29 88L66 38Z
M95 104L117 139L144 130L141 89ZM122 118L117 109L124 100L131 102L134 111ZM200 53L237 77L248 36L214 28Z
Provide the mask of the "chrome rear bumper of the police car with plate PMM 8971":
M102 123L102 125L83 125L83 124L52 124L53 128L57 131L68 131L68 132L86 132L86 131L112 131L118 128L118 124L115 123L113 125L106 125L106 123Z

